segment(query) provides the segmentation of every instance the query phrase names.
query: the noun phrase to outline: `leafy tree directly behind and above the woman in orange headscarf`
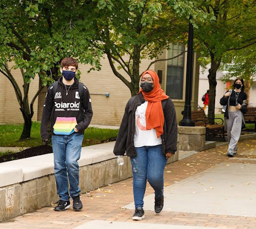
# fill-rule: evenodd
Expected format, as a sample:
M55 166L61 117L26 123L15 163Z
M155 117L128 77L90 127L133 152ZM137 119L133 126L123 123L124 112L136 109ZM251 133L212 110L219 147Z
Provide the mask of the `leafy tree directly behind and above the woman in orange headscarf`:
M139 90L141 59L157 58L170 43L183 42L190 15L193 22L207 17L192 1L184 0L98 0L97 7L96 48L103 50L113 73L132 96ZM186 30L178 28L177 22L186 24ZM167 59L153 62L160 60Z

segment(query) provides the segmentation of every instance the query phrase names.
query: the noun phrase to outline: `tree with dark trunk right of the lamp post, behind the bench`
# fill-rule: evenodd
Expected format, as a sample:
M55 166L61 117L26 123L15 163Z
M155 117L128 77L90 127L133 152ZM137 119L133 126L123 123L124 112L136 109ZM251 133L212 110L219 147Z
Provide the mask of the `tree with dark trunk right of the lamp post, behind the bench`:
M198 52L209 57L209 112L214 118L216 73L226 53L242 50L256 43L256 2L254 0L198 0L200 9L213 13L216 20L198 24L195 30ZM210 119L213 121L213 119Z

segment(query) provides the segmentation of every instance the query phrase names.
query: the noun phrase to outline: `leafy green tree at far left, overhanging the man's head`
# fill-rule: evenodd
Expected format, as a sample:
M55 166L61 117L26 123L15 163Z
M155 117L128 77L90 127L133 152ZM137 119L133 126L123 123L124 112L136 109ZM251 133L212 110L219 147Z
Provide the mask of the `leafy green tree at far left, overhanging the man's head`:
M14 87L23 114L24 128L20 139L30 137L33 102L43 86L59 78L62 58L76 57L81 63L91 64L92 68L100 67L101 51L91 45L95 30L90 20L90 2L1 0L0 72ZM8 62L22 72L23 94ZM30 82L37 75L42 86L29 104Z

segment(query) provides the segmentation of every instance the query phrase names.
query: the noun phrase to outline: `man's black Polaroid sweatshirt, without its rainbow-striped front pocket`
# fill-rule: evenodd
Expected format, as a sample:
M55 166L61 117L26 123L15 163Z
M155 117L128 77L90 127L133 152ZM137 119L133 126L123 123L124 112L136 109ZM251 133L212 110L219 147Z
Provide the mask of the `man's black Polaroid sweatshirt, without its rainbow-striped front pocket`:
M55 95L53 95L53 85L48 87L41 121L41 138L43 141L49 139L49 124L53 134L53 125L57 117L75 117L77 122L75 128L80 134L84 134L84 130L90 124L93 111L89 90L84 86L83 98L80 98L78 93L79 81L76 78L74 80L70 88L66 86L67 89L69 88L67 95L62 77L59 79Z

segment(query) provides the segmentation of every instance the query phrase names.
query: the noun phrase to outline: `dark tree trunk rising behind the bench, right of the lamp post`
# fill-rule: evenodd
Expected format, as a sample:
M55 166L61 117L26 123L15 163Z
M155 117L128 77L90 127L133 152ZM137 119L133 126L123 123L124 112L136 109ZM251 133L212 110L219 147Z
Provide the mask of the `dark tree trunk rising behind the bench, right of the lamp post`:
M216 97L216 86L217 86L216 73L220 66L220 62L221 61L216 62L214 57L212 57L211 68L209 69L209 75L208 75L208 80L209 80L208 118L211 124L214 124L213 118L215 118L215 97Z

